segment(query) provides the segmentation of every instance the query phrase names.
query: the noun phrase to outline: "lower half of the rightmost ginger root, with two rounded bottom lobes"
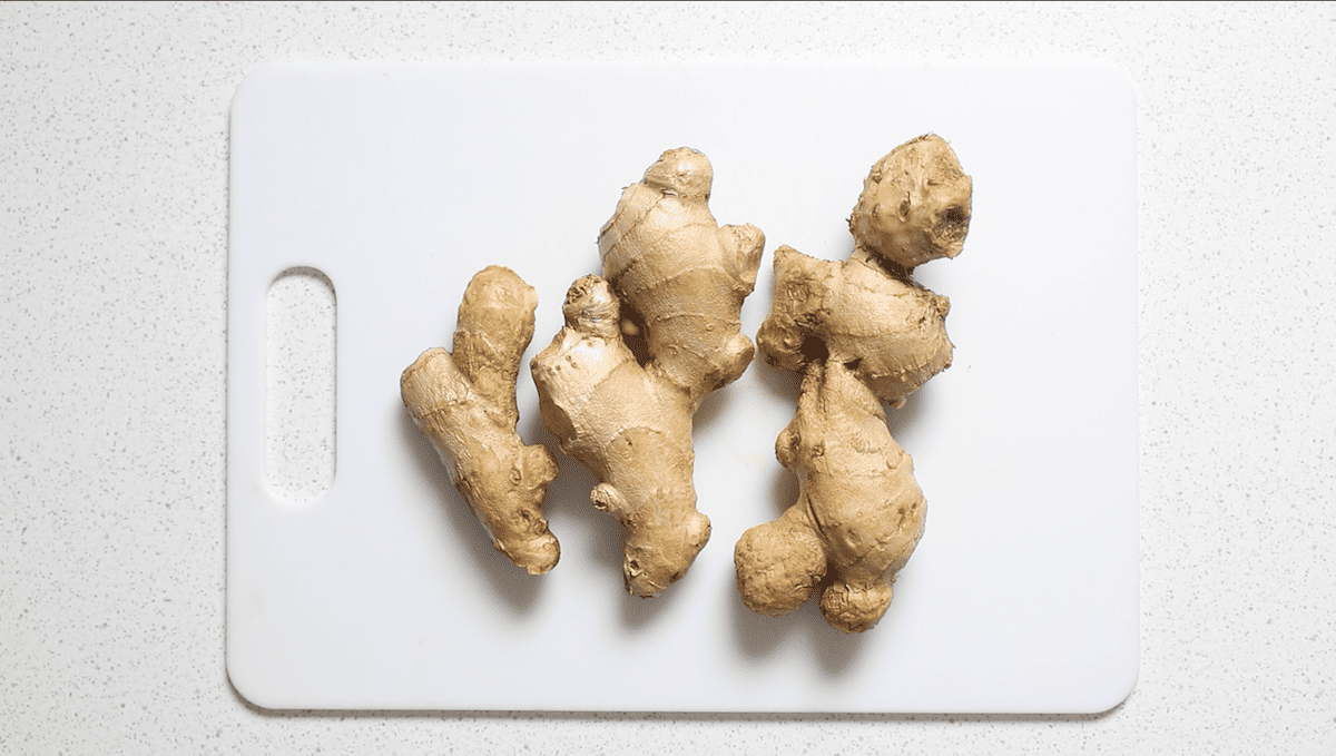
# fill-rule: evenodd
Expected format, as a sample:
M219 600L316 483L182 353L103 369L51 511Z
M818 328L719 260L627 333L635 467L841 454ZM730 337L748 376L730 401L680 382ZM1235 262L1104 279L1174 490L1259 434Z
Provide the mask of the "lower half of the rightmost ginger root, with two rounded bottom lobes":
M815 362L775 454L798 476L798 502L737 541L743 601L762 614L792 612L830 566L822 614L846 633L871 628L891 604L890 577L914 553L927 509L882 402L838 359Z

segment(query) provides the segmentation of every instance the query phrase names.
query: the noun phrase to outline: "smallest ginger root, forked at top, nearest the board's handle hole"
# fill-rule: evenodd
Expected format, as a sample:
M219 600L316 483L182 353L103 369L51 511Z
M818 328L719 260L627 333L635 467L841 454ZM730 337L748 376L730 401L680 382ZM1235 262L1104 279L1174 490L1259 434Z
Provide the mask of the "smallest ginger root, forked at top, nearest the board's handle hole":
M496 549L529 574L550 570L561 553L542 517L557 463L545 446L525 446L514 430L514 383L537 303L533 287L514 271L480 271L460 303L454 353L424 351L399 381L403 406L454 488Z

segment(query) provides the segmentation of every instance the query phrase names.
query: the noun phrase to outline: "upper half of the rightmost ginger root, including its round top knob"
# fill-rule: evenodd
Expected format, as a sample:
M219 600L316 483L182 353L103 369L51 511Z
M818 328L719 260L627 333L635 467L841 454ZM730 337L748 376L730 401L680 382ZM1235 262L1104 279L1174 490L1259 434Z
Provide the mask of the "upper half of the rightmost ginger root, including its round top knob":
M912 267L954 258L970 227L973 182L934 135L896 147L872 167L850 218L843 263L775 250L775 295L756 335L762 355L800 371L804 353L850 363L876 395L904 398L951 365L950 302L916 285Z

